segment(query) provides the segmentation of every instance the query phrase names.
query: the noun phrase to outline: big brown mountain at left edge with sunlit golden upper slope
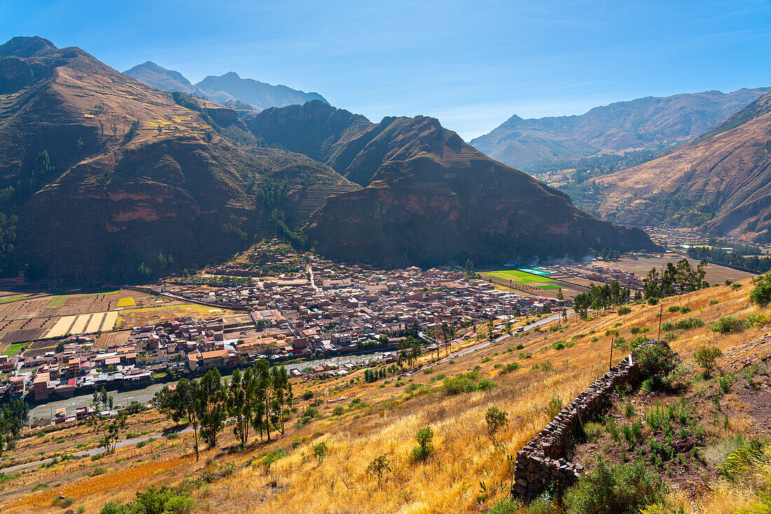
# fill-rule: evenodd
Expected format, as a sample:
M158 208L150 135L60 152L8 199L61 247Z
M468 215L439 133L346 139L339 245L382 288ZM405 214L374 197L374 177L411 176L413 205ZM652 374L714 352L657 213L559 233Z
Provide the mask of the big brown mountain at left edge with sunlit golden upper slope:
M273 210L312 186L358 187L308 157L229 143L217 129L245 129L231 109L180 106L45 39L0 46L0 92L5 274L128 280L160 252L204 264L271 233Z

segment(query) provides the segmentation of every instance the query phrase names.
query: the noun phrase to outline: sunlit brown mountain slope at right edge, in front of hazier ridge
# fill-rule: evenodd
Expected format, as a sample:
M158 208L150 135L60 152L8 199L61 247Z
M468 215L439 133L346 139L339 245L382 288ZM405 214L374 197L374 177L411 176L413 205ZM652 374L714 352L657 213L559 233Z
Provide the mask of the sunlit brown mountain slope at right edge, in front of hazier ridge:
M771 241L771 92L692 143L598 182L605 217Z

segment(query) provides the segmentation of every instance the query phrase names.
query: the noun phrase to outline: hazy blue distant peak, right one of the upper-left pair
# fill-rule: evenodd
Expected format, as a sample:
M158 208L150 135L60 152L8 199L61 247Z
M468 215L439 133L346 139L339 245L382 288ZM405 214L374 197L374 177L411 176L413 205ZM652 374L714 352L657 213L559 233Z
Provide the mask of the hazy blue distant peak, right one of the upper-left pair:
M318 92L298 91L287 86L271 86L258 80L241 79L235 72L225 73L220 77L208 76L198 82L196 87L214 102L228 103L239 100L259 110L303 104L311 100L328 103Z

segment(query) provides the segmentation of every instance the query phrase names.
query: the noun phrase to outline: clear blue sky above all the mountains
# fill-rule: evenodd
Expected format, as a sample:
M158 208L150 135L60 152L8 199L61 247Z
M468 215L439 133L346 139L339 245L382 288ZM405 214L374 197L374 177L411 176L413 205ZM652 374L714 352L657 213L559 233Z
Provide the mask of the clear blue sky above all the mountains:
M436 116L466 140L514 113L771 86L771 0L2 0L0 37L14 35L120 71L235 71L375 121Z

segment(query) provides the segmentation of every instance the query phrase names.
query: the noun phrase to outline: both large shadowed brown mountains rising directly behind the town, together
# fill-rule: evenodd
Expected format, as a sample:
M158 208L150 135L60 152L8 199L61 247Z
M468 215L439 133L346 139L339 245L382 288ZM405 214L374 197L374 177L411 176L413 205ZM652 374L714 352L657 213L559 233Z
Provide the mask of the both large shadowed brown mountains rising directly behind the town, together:
M383 266L654 247L433 118L237 111L39 37L0 45L4 274L131 280L163 273L159 254L181 270L302 227L322 254Z

